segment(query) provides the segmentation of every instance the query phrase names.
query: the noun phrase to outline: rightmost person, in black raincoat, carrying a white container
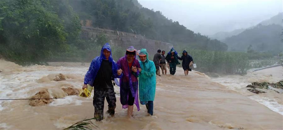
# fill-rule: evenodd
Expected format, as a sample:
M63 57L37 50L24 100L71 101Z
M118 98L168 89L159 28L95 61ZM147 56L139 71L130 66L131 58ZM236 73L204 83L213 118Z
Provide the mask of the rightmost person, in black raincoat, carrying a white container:
M188 52L186 50L184 50L182 57L178 57L178 59L183 60L182 61L182 67L184 69L185 76L187 76L189 71L192 71L192 69L190 69L190 65L192 65L194 63L193 57L188 55Z

